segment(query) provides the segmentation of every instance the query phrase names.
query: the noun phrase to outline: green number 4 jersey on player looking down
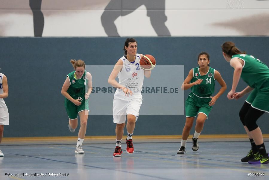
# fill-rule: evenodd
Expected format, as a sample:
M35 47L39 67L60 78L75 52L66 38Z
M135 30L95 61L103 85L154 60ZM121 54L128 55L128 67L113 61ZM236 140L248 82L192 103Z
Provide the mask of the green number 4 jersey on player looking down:
M87 71L85 70L83 76L81 76L80 79L75 78L75 71L67 75L70 81L70 86L67 92L72 98L77 99L77 97L81 97L84 99L85 87L88 84L86 73Z

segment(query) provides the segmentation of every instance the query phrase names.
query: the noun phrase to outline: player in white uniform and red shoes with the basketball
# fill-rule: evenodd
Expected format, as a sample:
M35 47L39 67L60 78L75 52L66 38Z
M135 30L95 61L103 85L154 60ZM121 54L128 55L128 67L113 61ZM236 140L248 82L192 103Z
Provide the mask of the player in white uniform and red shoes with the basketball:
M141 90L144 76L151 76L150 70L143 70L139 60L143 56L137 54L137 43L134 38L127 38L124 44L125 55L122 56L112 70L108 83L118 88L113 100L113 122L116 124L116 148L113 157L120 157L121 140L125 120L127 115L127 144L126 152L132 154L133 149L133 130L138 118L139 109L142 104ZM119 82L115 80L118 76Z

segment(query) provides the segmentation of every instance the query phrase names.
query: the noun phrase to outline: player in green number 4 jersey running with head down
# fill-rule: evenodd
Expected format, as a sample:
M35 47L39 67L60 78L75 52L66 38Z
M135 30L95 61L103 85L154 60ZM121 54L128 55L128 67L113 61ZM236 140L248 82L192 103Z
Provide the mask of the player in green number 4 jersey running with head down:
M86 134L89 115L89 95L92 92L92 75L85 70L82 60L71 60L74 71L67 75L62 87L62 95L65 97L66 112L69 117L69 130L73 133L77 128L77 114L80 118L77 146L75 153L84 154L82 143ZM86 91L86 88L88 90Z

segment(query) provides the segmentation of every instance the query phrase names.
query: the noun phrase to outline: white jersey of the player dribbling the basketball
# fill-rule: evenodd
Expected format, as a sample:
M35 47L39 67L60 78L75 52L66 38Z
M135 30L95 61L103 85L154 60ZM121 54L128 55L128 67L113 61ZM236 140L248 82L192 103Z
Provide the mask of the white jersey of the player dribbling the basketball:
M119 84L129 88L133 94L141 94L144 82L144 70L140 67L140 58L140 54L136 54L134 62L128 61L126 55L120 58L123 66L118 73Z

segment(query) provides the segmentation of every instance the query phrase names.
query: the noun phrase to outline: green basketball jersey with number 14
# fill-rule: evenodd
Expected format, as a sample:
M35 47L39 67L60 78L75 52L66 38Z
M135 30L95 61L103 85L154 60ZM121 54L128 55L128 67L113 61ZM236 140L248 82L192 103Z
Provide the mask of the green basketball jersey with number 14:
M197 79L203 79L201 84L194 85L191 87L192 93L200 98L209 98L213 95L215 91L215 69L209 67L206 75L201 76L199 72L199 67L193 68L192 82L197 81Z

